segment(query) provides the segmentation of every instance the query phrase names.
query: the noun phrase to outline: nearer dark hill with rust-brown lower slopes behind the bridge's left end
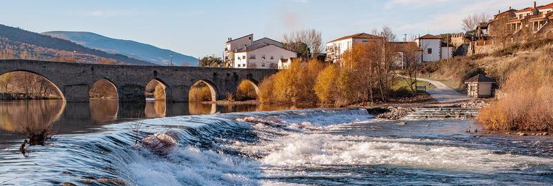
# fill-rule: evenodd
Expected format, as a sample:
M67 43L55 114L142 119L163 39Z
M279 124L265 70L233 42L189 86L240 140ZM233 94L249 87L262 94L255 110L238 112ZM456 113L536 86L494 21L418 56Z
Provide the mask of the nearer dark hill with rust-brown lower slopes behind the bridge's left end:
M122 54L110 54L102 50L86 48L65 39L38 34L0 24L0 48L10 49L16 56L31 56L33 59L49 60L76 58L79 62L100 63L100 60L113 60L129 65L155 65L147 61L133 59ZM19 54L19 55L17 55ZM3 54L7 56L6 54ZM84 61L80 61L80 60Z

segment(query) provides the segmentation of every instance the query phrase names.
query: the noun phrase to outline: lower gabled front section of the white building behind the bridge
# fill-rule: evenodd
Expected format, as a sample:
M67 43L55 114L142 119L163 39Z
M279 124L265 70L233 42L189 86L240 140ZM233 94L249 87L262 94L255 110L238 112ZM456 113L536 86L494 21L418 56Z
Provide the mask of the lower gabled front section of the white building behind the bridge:
M296 52L277 45L261 44L259 48L234 53L234 68L278 68L280 59L296 57Z

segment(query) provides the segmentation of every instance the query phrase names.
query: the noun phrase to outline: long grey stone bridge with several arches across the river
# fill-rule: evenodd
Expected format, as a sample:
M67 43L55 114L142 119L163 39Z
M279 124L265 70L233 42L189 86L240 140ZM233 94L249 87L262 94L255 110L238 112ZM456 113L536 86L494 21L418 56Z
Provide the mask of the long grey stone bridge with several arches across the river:
M0 60L0 75L26 71L53 83L67 102L88 102L88 91L100 79L113 83L119 101L144 101L144 90L155 79L165 85L166 101L187 102L192 85L206 83L212 99L221 100L227 92L236 94L243 80L257 84L278 72L272 69L200 68L180 66L102 65L32 60Z

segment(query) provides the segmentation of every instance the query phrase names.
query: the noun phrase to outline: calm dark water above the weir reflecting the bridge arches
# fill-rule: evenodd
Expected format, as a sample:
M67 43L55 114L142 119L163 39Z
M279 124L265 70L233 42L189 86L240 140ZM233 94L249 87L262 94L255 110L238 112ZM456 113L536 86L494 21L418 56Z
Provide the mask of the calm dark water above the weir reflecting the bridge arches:
M0 149L20 141L25 125L53 124L57 134L98 130L102 125L137 118L158 118L194 114L288 110L283 105L215 105L203 103L119 103L117 100L91 100L65 103L59 100L0 101Z

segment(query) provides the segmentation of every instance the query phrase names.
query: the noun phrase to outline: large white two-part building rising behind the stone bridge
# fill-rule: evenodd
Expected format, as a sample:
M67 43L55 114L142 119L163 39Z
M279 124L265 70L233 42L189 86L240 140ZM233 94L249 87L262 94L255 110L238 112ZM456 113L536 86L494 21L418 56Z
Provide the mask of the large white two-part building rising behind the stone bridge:
M254 34L225 42L224 60L232 68L278 68L280 59L297 56L283 48L283 43L264 37L253 40Z

